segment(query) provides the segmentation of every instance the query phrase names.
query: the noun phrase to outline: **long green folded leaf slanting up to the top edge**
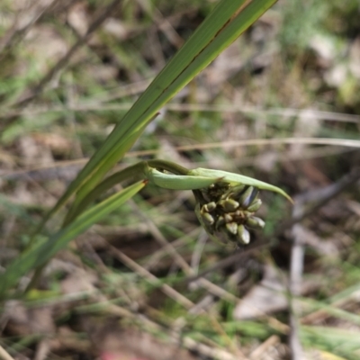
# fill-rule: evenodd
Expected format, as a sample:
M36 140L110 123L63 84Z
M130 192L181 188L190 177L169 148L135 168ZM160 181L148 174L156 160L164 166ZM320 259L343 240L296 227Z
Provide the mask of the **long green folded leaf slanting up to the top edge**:
M184 47L177 52L152 84L148 86L147 91L139 97L139 100L121 119L102 148L94 154L68 187L54 211L62 206L73 193L76 193L87 180L85 190L79 196L78 201L80 201L130 148L130 143L124 144L123 141L132 137L134 132L137 134L142 132L145 125L151 121L161 106L274 3L275 0L220 1L193 36L186 41ZM238 12L243 9L244 5L247 5L245 7L246 16L239 17ZM234 14L238 15L234 17ZM240 14L242 13L240 12ZM234 23L234 19L237 20L236 23ZM229 27L233 23L234 25ZM228 30L223 32L226 29ZM219 38L221 33L223 35ZM220 40L215 41L216 39ZM211 45L211 50L205 53L204 49L207 49L209 45Z

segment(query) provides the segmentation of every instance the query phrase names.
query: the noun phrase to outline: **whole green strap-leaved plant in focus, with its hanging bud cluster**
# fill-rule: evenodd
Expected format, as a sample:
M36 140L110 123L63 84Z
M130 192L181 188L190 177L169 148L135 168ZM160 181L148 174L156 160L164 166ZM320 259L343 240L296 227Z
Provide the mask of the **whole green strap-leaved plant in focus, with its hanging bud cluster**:
M259 189L289 198L274 185L220 170L189 170L163 160L142 161L113 175L107 174L131 148L148 123L157 117L161 107L257 21L275 1L221 0L214 7L67 187L67 191L36 229L28 248L0 275L2 298L14 296L16 284L31 270L34 270L33 279L36 279L41 268L58 250L66 247L69 241L121 206L148 183L169 190L193 191L195 211L211 238L245 246L250 241L248 229L264 227L264 220L255 216L261 205ZM99 196L124 180L130 185L94 204ZM49 238L41 237L41 230L47 221L70 201L61 228Z

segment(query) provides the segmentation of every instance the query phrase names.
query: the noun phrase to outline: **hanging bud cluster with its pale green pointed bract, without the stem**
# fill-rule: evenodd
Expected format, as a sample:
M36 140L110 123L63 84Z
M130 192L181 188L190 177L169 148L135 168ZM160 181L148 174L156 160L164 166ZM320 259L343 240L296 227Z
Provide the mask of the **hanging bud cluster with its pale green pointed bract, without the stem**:
M171 172L172 163L166 164ZM255 216L262 204L259 189L280 193L292 202L287 193L272 184L226 171L197 168L176 175L148 166L146 175L150 183L166 189L192 190L197 202L195 213L209 236L237 247L250 242L251 229L266 225Z

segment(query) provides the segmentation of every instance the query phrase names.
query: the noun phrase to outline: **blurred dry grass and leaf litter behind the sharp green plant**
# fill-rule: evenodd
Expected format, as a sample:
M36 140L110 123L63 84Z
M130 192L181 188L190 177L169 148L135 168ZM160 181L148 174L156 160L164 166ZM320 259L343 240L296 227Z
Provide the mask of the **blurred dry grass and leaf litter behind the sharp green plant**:
M0 3L1 271L215 4ZM27 299L3 304L6 353L358 359L359 18L357 0L279 1L119 164L240 172L294 207L263 193L266 229L235 251L208 240L192 193L148 186L51 260Z

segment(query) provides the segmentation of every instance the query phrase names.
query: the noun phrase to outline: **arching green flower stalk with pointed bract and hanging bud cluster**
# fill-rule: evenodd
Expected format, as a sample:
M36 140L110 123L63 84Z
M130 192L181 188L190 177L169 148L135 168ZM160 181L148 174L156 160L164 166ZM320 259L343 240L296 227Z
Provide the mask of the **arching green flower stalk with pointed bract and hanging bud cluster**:
M196 200L195 213L209 236L238 247L250 242L250 230L265 226L265 221L255 216L262 204L259 189L280 193L292 201L278 187L251 177L201 167L189 170L156 159L139 162L103 180L68 211L64 226L114 184L141 179L169 190L192 190Z

